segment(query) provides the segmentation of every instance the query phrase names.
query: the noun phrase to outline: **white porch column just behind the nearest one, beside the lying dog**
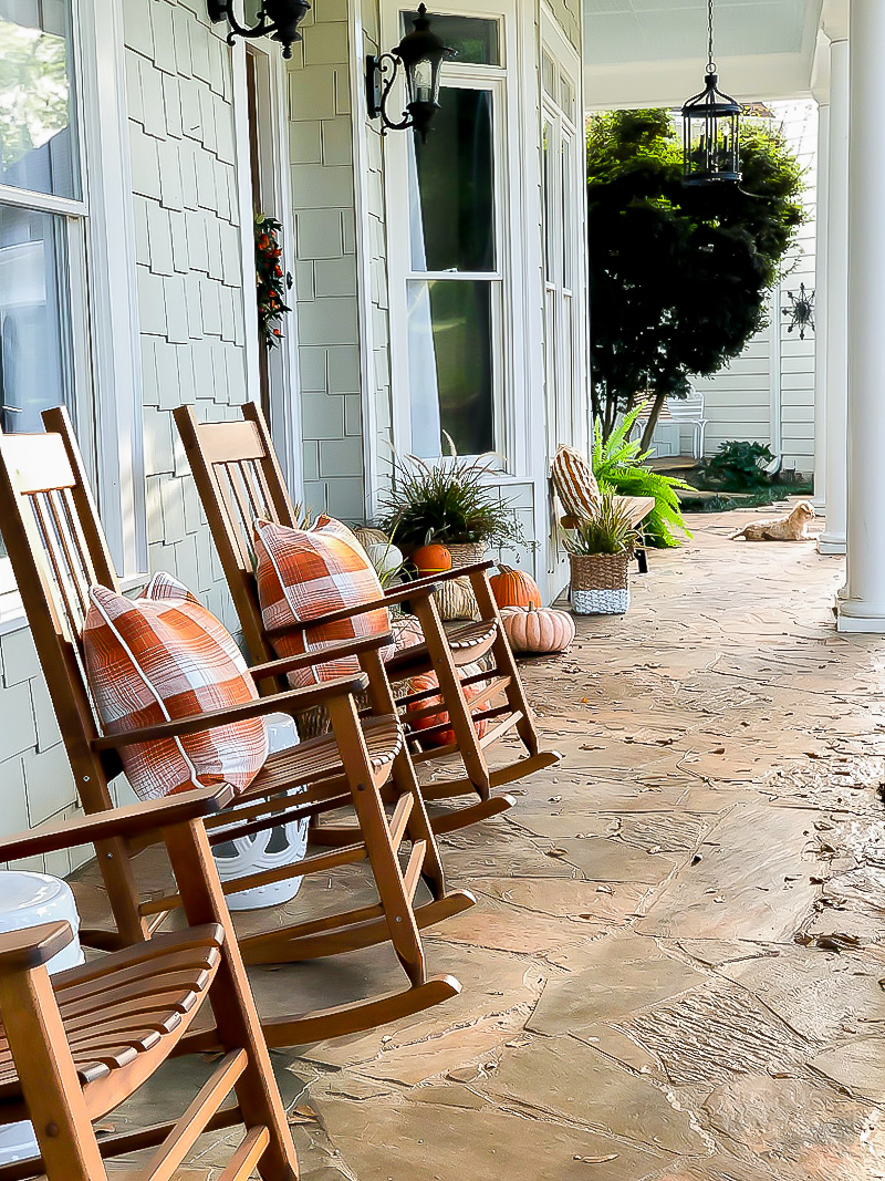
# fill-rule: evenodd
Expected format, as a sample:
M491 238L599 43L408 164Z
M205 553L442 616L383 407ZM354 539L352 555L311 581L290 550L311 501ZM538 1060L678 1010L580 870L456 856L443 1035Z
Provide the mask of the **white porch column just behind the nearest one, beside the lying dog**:
M821 554L844 554L847 518L848 397L848 43L830 46L826 227L826 529Z

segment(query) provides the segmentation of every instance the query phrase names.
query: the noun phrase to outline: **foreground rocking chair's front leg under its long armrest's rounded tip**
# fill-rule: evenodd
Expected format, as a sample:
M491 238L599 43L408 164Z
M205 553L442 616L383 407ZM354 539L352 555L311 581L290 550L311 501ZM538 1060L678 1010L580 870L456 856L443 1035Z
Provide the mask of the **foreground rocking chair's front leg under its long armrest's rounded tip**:
M205 829L179 826L165 833L165 842L188 922L217 922L224 928L222 961L209 999L219 1048L247 1052L248 1065L235 1090L247 1131L263 1128L269 1134L258 1173L263 1181L297 1181L295 1147Z

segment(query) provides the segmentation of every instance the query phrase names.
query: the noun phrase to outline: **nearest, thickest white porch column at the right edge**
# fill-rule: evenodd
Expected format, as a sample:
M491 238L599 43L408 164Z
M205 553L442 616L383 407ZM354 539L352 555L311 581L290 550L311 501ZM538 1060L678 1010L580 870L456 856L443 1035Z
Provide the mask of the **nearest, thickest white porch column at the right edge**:
M883 0L852 0L850 37L848 582L839 631L885 633L885 155L870 103L885 60Z

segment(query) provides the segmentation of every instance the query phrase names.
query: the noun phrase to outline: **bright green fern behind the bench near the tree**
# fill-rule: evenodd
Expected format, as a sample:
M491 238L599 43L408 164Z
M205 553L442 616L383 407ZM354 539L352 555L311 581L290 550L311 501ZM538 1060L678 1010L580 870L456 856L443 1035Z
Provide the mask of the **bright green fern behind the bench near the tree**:
M599 485L609 485L622 496L654 496L655 508L643 521L645 540L658 549L673 549L691 534L682 520L676 490L689 489L684 479L662 476L645 466L649 452L638 439L630 439L630 431L642 413L644 403L635 406L609 435L603 438L602 422L594 426L592 466Z

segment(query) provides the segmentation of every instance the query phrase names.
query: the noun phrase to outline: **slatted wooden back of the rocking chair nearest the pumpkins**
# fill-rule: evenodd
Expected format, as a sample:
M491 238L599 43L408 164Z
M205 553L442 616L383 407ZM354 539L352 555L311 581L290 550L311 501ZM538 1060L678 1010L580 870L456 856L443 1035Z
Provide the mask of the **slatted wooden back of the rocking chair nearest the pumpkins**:
M173 417L185 454L201 461L191 470L247 646L256 664L266 664L275 653L261 626L253 522L296 528L299 518L261 410L254 403L242 410L237 423L198 423L192 406L178 406Z

